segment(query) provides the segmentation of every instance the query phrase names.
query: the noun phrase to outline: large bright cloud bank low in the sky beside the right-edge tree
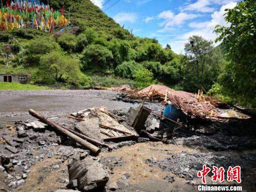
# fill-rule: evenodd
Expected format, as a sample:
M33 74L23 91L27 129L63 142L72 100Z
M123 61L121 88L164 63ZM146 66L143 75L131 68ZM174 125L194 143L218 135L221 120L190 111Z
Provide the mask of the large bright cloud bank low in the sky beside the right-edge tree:
M190 23L190 27L195 28L194 30L183 34L181 37L174 39L174 41L170 42L172 49L176 53L180 53L183 51L184 44L187 42L188 38L193 35L199 35L205 39L214 41L216 39L216 34L213 32L216 25L228 26L224 19L225 9L232 9L236 6L236 2L229 2L226 5L221 6L218 11L214 11L211 14L211 20L207 22L192 22Z

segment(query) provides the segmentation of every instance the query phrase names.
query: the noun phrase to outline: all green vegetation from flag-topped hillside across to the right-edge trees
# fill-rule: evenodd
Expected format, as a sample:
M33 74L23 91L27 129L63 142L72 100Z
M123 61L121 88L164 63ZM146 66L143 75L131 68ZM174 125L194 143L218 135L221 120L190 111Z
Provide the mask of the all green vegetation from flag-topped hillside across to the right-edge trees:
M42 1L47 3L47 0ZM185 45L185 55L178 55L169 45L163 48L156 39L135 37L90 0L51 0L50 6L57 10L64 2L64 14L71 25L55 28L52 34L35 29L0 31L0 71L31 73L34 83L61 84L67 88L123 83L144 88L151 83L163 83L192 92L203 87L211 94L223 96L226 101L237 99L234 94L246 98L246 91L251 91L247 99L252 98L256 90L253 91L255 73L251 75L250 71L255 71L255 50L248 50L255 47L255 29L252 27L255 24L249 24L247 19L255 23L256 17L250 12L255 10L250 8L254 5L253 1L249 5L250 1L238 4L236 9L241 12L229 10L226 19L234 25L216 30L224 44L214 48L213 42L192 36ZM238 19L240 17L242 19ZM242 30L235 35L243 37L241 39L228 35L237 25ZM233 46L236 49L231 49ZM241 70L243 66L247 66L246 70ZM243 87L239 75L251 85ZM225 88L225 81L229 82L229 89Z

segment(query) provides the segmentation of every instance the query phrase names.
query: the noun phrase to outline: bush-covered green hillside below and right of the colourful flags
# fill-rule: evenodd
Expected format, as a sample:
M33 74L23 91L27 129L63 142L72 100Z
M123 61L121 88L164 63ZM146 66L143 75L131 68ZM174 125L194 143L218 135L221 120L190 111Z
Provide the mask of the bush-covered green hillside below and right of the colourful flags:
M63 2L70 26L51 35L29 28L0 31L0 73L31 73L33 83L78 88L181 80L181 55L155 39L134 37L90 0L49 1L59 11Z

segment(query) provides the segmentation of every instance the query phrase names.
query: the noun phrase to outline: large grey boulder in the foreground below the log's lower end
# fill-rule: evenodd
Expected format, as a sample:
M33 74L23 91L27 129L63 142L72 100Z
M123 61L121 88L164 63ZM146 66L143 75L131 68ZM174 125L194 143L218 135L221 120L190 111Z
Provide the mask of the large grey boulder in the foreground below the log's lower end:
M109 180L109 174L103 166L91 156L83 159L79 155L73 156L68 161L69 181L77 180L77 189L81 192L97 191L104 189Z

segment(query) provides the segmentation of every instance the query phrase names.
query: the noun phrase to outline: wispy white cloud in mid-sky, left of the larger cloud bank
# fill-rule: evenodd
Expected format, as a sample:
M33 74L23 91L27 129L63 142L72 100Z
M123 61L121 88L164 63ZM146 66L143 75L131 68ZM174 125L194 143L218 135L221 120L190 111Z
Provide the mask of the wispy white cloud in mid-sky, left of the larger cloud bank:
M184 12L181 12L181 13L175 15L170 10L163 11L162 13L160 13L158 15L158 18L165 19L160 24L160 26L164 26L164 28L158 30L158 32L166 32L166 31L173 30L174 26L180 26L180 25L184 24L185 21L190 20L192 18L197 18L199 16L201 16L201 15L199 15L199 14L187 14L187 13L184 13Z

